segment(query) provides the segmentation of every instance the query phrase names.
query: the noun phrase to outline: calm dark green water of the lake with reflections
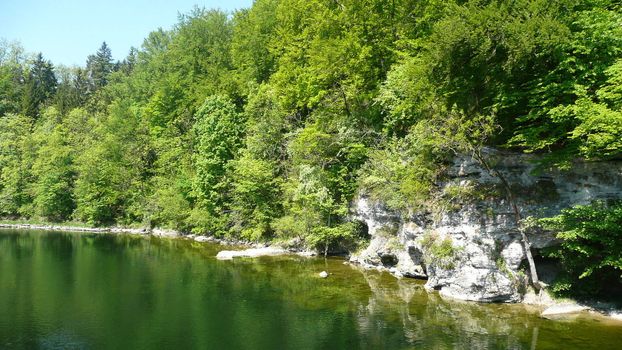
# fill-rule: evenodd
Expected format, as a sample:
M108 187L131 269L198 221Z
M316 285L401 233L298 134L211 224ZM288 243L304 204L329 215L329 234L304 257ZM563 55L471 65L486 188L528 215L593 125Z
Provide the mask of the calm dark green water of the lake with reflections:
M0 349L622 348L604 319L450 302L339 259L218 261L219 249L0 230Z

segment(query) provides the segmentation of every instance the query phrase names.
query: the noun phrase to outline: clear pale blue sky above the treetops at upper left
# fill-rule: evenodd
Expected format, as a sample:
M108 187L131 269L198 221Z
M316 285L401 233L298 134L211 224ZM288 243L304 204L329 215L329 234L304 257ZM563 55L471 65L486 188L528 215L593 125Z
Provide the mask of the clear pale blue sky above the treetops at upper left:
M84 65L106 41L115 59L149 32L177 23L194 5L226 11L253 0L0 0L0 38L42 52L54 64Z

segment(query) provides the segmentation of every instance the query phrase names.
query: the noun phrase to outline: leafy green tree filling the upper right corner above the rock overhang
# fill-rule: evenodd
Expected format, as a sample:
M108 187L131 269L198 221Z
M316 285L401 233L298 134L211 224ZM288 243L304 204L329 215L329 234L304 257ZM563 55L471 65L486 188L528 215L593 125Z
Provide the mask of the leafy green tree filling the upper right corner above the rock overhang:
M615 90L611 83L616 86L615 62L622 52L621 16L610 7L585 6L567 17L564 22L571 33L556 45L555 64L529 82L532 108L517 119L520 128L512 145L553 151L549 159L562 165L577 153L587 157L619 154L614 142L619 116L615 107L608 111L598 95L605 97L607 91ZM603 127L603 118L613 118L611 129Z

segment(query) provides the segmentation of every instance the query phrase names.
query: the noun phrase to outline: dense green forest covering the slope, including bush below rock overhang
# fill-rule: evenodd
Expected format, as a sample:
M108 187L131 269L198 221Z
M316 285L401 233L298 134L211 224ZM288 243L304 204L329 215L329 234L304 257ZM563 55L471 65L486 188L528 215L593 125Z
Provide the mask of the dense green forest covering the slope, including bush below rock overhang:
M357 193L417 210L455 154L622 156L615 0L256 0L111 49L0 43L0 217L347 246ZM543 224L620 279L622 205Z

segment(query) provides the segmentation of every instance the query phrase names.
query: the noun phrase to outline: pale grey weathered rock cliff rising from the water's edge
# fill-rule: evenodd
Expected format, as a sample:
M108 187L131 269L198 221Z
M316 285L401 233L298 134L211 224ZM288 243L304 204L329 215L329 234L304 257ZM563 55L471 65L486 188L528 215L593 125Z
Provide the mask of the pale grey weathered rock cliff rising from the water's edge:
M576 204L622 198L622 162L576 162L566 171L536 169L531 155L487 150L507 180L523 217L548 217ZM538 171L536 171L538 170ZM442 296L483 302L518 302L524 294L525 252L499 178L471 158L456 158L426 211L403 214L361 194L353 217L371 242L352 262L397 276L427 278ZM555 244L530 232L532 249Z

